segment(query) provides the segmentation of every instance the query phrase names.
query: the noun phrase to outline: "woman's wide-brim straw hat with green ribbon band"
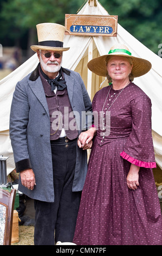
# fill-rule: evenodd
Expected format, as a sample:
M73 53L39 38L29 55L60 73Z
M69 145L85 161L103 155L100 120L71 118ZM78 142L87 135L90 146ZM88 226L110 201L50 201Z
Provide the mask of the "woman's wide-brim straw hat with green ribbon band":
M133 68L131 74L134 77L145 75L151 69L151 63L142 58L132 56L126 45L116 44L110 48L107 55L103 55L90 60L88 68L98 76L106 77L108 75L107 62L111 56L123 56L132 59Z

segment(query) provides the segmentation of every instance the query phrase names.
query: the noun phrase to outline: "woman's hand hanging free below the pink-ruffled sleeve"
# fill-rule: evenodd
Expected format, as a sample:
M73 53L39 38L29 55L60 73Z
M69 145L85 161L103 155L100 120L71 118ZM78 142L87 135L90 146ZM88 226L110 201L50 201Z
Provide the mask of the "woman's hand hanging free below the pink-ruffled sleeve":
M129 173L127 175L127 186L130 190L136 190L139 186L139 166L131 164Z

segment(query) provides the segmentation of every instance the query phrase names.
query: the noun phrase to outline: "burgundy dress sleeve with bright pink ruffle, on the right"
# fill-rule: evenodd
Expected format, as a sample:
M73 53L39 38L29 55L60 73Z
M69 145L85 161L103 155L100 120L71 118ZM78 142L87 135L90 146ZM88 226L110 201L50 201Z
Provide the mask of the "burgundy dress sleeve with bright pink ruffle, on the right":
M120 155L136 166L156 168L151 129L151 100L147 95L142 95L132 100L130 107L132 132Z

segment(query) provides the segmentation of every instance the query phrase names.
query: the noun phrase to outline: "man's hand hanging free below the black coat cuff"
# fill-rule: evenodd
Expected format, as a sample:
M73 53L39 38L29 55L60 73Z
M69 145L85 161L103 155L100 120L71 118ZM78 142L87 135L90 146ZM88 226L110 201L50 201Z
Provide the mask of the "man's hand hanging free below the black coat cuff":
M28 190L33 190L35 183L35 175L32 169L22 170L20 173L21 183L27 187Z

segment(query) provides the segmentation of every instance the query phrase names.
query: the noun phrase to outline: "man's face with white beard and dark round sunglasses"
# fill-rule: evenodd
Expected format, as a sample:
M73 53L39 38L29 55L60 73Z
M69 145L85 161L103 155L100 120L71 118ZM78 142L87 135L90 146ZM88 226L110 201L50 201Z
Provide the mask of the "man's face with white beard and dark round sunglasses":
M48 73L57 73L60 70L62 63L62 52L41 50L41 52L37 51L37 54L41 68L46 75L48 75Z

